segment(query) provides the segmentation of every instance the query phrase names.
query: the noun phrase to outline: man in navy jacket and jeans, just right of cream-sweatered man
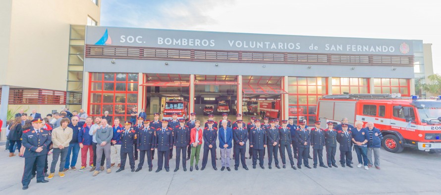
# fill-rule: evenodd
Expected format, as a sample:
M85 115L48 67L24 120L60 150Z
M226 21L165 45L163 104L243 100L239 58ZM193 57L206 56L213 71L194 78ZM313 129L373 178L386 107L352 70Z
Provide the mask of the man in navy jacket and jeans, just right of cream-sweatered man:
M77 116L73 116L71 123L67 125L68 127L72 128L73 134L72 134L72 140L69 143L69 148L67 148L66 163L64 164L63 172L69 170L69 165L72 170L77 170L75 164L77 163L78 153L80 152L80 145L78 144L78 133L83 130L83 127L81 126L80 123L78 123L78 121L79 118ZM72 154L71 162L69 162L70 154Z

